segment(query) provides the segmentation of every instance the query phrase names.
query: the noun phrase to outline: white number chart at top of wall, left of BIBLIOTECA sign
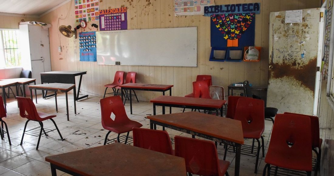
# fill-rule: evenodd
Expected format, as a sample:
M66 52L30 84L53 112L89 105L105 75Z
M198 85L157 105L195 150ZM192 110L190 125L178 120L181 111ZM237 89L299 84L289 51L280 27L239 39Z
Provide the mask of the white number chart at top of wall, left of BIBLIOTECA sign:
M213 0L174 0L174 15L204 15L204 6L209 5Z

